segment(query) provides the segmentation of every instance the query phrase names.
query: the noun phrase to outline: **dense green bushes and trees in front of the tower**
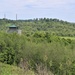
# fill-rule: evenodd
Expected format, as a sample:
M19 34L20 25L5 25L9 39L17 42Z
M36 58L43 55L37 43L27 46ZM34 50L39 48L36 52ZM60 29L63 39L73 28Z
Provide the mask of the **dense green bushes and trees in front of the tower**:
M74 75L75 40L47 32L18 35L0 32L0 62L17 65L36 73Z

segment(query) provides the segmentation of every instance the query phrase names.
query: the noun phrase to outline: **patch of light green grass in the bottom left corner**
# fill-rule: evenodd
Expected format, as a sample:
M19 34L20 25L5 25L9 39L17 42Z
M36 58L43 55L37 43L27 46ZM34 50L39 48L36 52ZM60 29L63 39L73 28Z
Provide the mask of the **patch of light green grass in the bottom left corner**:
M0 62L0 75L34 75L33 71L20 69L19 67L3 64Z

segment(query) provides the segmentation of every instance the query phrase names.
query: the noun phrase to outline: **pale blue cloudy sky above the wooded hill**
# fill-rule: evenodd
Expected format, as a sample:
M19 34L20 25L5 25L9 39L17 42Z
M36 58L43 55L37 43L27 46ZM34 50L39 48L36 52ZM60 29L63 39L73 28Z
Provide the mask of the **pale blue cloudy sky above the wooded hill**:
M57 18L75 22L75 0L0 0L0 18Z

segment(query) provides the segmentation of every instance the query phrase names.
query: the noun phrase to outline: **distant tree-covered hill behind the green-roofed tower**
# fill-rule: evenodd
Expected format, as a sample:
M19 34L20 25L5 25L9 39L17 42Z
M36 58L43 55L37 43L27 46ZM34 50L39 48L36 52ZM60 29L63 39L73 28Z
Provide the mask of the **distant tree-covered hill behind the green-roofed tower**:
M29 20L8 20L0 19L0 30L7 30L8 26L16 24L23 34L33 34L36 31L45 31L58 36L75 36L75 23L62 21L59 19L29 19Z

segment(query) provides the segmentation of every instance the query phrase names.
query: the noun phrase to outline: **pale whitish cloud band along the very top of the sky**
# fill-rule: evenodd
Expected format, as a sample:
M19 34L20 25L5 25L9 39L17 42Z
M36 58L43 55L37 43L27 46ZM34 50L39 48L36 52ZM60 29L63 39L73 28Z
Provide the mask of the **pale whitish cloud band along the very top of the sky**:
M74 0L3 0L0 2L0 6L4 8L23 8L25 5L33 5L34 7L56 7L70 2L75 2Z

